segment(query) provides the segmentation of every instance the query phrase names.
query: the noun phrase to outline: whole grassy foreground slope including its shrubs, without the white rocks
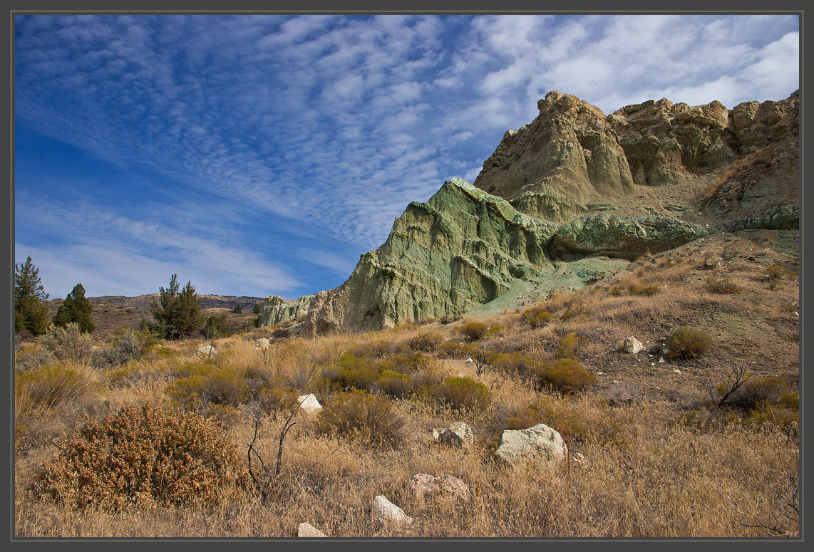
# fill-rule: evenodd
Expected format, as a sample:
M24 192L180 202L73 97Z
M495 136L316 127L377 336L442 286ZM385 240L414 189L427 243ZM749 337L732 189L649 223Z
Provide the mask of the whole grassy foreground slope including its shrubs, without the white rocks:
M61 359L21 346L15 534L292 537L309 522L330 537L796 537L798 267L747 237L492 319L315 340L260 328L211 356L160 342L107 362L98 350L115 343ZM671 341L679 328L695 341ZM625 353L628 336L646 349ZM738 367L751 376L722 401ZM303 393L324 409L289 421ZM432 441L455 421L472 449ZM301 423L276 473L287 422ZM569 461L494 459L503 430L537 423L562 433ZM417 473L472 496L419 501ZM379 494L414 523L371 520Z

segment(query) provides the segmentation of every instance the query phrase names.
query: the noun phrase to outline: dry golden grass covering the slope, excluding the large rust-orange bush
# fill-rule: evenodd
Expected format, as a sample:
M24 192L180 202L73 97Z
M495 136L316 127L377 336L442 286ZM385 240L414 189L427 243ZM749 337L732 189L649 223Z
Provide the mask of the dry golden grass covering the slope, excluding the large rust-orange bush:
M18 443L15 451L15 534L291 537L308 521L332 537L794 536L799 330L791 313L799 283L778 277L779 285L771 289L762 277L767 266L782 266L784 274L796 266L788 259L759 264L735 258L704 271L702 260L724 244L742 247L744 258L751 254L751 244L723 239L640 259L632 270L591 288L554 293L540 304L550 318L536 328L521 311L489 320L492 328L503 328L485 334L480 346L501 351L505 359L536 359L539 366L559 356L579 363L597 381L587 389L575 386L571 394L540 392L532 374L519 367L478 374L460 351L447 351L461 348L457 340L456 346L441 345L432 358L413 353L410 343L416 337L419 346L427 331L456 337L455 325L277 339L267 350L255 345L260 333L252 332L217 340L219 353L211 359L193 354L201 341L162 343L112 370L83 368L98 385L89 393L69 393L59 408L45 410L34 405L46 400L25 398L34 393L18 374L15 414L18 424L27 419L30 429L26 445ZM741 293L713 293L707 287L711 277L731 279ZM631 294L633 285L659 291ZM666 343L681 326L711 335L706 354L658 363L659 354L617 350L630 335L648 346ZM515 352L519 356L512 356ZM771 394L772 408L746 412L711 406L707 389L725 380L736 362L748 363L762 385L747 389L757 397L752 402L762 404ZM366 399L367 410L361 401L348 402L353 393L337 385L344 367L362 364L378 378L367 392L356 392L372 397ZM674 372L678 368L681 373ZM265 498L237 486L224 494L228 499L208 508L172 501L81 508L42 497L37 481L43 463L57 458L53 437L79 427L79 413L101 419L121 406L169 406L173 385L196 374L207 381L240 381L248 389L231 404L213 403L214 410L213 404L186 406L223 420L226 442L243 465L246 444L256 437L254 449L274 466L292 398L313 392L325 406L324 415L294 418L298 423L287 433L281 474L270 477ZM473 390L484 400L470 405L444 398ZM471 450L431 441L432 428L454 421L472 428ZM570 453L584 454L587 463L569 462L540 477L533 467L510 468L493 460L503 430L536 423L561 432ZM261 469L253 458L253 468ZM419 472L461 478L472 491L470 502L418 501L409 480ZM398 530L371 521L377 494L401 506L414 524Z

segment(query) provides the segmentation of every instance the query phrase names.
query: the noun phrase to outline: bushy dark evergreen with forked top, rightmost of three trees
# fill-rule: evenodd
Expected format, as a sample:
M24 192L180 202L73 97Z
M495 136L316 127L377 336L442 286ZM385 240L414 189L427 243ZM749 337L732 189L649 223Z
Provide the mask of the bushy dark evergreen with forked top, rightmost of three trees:
M153 299L150 312L155 324L150 329L165 339L180 339L195 332L204 324L204 315L198 302L198 293L190 281L184 289L178 285L177 274L169 280L169 287L159 287L160 304Z

